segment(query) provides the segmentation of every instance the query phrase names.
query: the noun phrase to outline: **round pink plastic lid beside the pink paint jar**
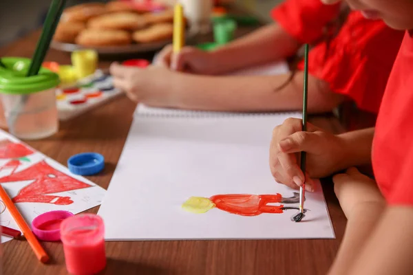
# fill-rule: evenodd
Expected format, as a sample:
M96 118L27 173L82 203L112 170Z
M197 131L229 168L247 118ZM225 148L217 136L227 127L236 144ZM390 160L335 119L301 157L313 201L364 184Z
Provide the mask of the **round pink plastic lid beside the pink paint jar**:
M68 211L56 210L40 214L32 221L32 230L41 241L60 241L60 225L64 219L74 214Z

